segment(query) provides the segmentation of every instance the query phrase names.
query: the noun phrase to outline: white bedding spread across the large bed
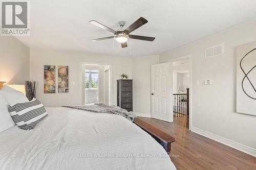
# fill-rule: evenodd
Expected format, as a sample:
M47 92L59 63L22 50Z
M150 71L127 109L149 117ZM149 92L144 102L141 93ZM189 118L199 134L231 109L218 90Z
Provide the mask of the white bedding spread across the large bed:
M122 116L47 111L32 131L0 133L1 169L176 169L159 143Z

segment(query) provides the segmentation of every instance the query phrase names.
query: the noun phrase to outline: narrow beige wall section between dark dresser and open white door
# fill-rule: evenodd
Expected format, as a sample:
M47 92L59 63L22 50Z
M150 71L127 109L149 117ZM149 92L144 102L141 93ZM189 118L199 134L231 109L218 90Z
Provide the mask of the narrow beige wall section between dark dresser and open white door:
M133 58L133 110L138 116L151 117L151 65L159 56Z

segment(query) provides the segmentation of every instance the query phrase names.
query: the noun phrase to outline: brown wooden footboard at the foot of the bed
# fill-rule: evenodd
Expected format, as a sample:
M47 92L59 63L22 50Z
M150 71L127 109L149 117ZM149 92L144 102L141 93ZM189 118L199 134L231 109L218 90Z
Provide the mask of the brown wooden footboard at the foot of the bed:
M160 143L168 154L170 153L170 145L175 141L173 136L170 136L160 129L144 122L140 118L135 118L134 123Z

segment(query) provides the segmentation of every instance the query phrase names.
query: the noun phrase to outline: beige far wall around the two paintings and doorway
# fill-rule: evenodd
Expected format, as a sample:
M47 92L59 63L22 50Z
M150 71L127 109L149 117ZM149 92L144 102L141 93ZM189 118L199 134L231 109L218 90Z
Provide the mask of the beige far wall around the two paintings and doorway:
M30 49L30 79L38 82L37 98L46 107L79 104L79 63L102 63L111 65L111 104L117 104L117 83L122 73L132 78L132 58L92 55L76 52ZM69 66L69 93L44 94L44 65Z

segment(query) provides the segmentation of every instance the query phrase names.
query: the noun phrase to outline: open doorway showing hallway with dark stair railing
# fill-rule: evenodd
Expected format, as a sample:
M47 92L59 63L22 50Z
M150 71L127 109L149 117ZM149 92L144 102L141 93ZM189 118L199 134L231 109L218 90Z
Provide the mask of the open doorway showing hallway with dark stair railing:
M173 122L189 128L189 58L172 61Z

